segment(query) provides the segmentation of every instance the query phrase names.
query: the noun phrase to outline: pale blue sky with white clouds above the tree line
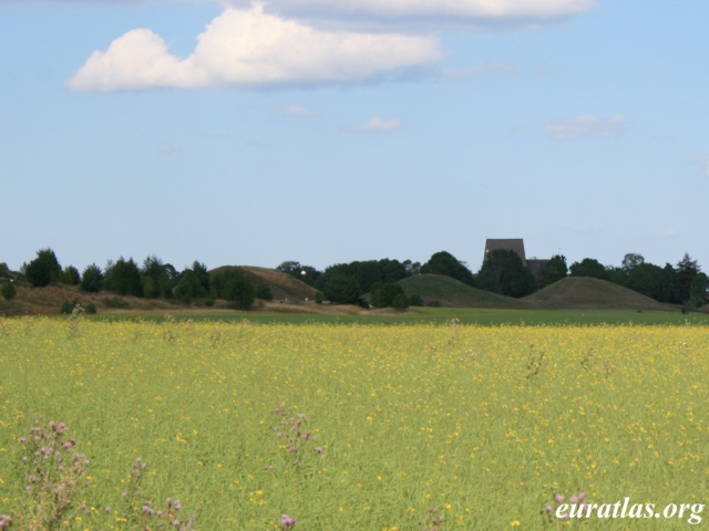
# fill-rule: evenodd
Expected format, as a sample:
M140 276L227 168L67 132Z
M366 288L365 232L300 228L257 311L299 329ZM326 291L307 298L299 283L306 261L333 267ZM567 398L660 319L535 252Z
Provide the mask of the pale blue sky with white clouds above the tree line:
M709 271L705 0L0 0L0 262L486 238Z

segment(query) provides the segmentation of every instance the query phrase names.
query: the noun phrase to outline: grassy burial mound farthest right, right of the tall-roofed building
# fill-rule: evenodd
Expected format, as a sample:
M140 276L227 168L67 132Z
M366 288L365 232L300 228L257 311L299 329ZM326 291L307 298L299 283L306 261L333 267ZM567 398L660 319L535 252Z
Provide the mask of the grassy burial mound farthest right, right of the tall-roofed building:
M657 302L637 291L588 277L569 277L523 299L528 308L625 309L674 311L671 304Z

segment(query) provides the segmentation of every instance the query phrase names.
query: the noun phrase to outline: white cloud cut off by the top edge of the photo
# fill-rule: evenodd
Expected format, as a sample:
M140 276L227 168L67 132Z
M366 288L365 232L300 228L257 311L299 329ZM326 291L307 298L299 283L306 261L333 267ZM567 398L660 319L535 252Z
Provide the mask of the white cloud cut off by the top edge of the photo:
M244 4L248 0L232 0ZM288 13L394 18L555 19L594 9L596 0L271 0Z

